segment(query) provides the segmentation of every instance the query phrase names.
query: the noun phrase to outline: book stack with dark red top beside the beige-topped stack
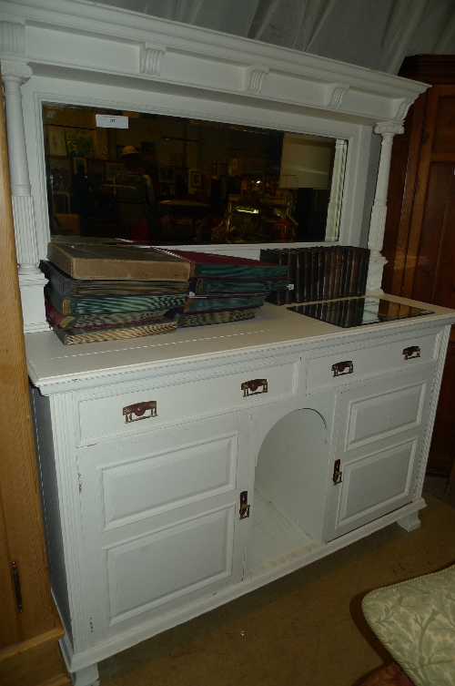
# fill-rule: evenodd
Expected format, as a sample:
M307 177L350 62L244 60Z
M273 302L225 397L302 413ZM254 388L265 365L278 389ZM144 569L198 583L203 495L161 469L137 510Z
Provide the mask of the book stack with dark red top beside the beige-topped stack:
M251 319L270 292L288 288L286 266L204 252L164 252L189 265L185 302L167 312L179 327Z

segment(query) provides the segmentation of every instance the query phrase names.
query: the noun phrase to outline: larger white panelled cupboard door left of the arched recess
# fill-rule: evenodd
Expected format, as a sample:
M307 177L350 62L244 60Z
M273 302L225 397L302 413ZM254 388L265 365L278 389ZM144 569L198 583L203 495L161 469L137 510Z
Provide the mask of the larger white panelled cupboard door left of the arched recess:
M94 643L243 578L250 435L234 415L80 456Z

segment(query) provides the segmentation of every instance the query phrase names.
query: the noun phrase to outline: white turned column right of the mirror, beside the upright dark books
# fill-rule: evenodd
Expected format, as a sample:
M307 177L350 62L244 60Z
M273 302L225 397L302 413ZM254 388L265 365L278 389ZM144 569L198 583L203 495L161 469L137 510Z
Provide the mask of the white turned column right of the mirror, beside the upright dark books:
M387 260L380 253L384 241L384 229L387 215L387 190L389 188L390 158L392 154L393 137L397 133L403 133L404 128L397 123L382 121L375 127L374 132L382 136L380 148L378 179L376 193L371 210L369 222L369 242L371 251L369 257L369 275L367 281L367 293L382 293L382 270Z

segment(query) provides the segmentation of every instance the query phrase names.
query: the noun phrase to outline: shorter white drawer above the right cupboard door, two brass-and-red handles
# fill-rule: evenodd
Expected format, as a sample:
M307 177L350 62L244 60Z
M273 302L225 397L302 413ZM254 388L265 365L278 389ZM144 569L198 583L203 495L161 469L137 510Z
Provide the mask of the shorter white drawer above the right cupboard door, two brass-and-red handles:
M407 338L387 340L365 347L339 347L338 351L310 357L307 390L349 384L369 376L391 371L410 371L421 364L436 362L439 333L418 333Z

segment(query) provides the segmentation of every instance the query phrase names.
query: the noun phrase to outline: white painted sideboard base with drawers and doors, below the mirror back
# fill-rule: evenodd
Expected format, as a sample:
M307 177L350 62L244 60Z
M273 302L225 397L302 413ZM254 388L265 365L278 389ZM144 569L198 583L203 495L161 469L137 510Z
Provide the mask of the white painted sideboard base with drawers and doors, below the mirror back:
M98 660L380 527L419 526L455 322L431 309L351 330L267 305L126 342L26 335L77 686L98 682Z

